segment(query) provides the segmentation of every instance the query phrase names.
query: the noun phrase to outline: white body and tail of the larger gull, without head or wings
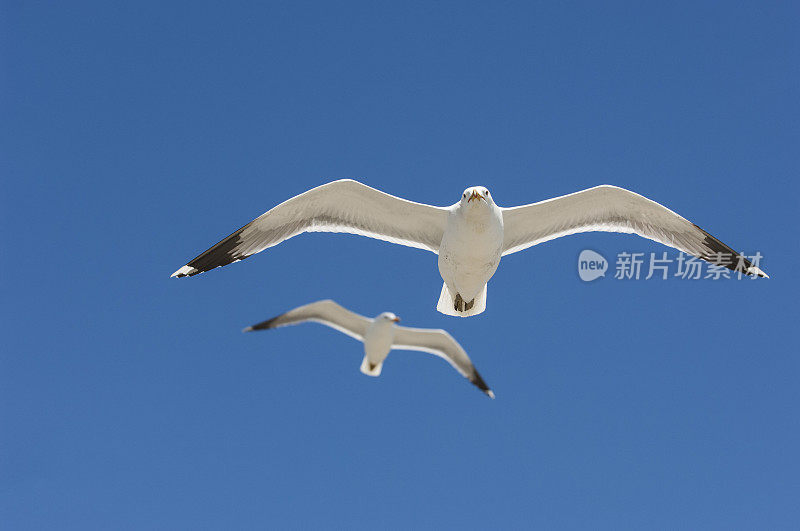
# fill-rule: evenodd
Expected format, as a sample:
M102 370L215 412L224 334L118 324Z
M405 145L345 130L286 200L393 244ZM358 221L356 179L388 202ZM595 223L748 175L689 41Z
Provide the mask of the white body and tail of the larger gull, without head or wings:
M500 208L494 204L455 205L439 248L439 274L445 284L439 311L461 316L481 313L486 304L486 283L497 270L502 253ZM461 295L465 302L475 299L475 306L469 312L455 312L452 301L456 295Z

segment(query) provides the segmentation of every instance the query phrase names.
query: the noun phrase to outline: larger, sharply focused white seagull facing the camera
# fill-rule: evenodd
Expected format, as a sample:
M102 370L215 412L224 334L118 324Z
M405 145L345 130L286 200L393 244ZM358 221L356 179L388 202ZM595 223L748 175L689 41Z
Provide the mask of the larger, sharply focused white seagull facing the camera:
M500 259L579 232L623 232L754 277L743 255L691 221L637 193L611 185L503 208L483 186L449 207L415 203L351 179L312 188L257 217L175 271L187 277L243 260L302 232L347 232L439 255L444 280L437 310L469 317L486 309L486 286ZM768 278L768 277L767 277Z

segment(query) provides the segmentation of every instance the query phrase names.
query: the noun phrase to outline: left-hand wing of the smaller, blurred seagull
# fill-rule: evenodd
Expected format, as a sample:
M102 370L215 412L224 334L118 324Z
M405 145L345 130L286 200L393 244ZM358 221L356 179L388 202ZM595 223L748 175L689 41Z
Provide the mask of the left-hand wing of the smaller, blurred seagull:
M267 330L269 328L295 325L306 321L313 321L330 326L352 338L364 341L364 334L366 334L367 327L369 327L372 319L351 312L332 300L326 299L300 306L277 317L273 317L272 319L267 319L256 325L248 326L243 332Z

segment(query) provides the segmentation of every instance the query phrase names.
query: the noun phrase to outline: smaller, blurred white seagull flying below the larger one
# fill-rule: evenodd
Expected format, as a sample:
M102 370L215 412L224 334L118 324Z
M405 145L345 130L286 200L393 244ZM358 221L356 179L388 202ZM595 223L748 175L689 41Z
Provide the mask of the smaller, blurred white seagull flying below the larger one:
M418 350L443 358L489 398L494 398L494 393L475 370L467 353L450 334L444 330L399 326L397 323L400 318L391 312L383 312L370 319L327 299L248 326L243 332L296 325L306 321L330 326L364 343L361 372L368 376L380 376L383 362L390 350Z

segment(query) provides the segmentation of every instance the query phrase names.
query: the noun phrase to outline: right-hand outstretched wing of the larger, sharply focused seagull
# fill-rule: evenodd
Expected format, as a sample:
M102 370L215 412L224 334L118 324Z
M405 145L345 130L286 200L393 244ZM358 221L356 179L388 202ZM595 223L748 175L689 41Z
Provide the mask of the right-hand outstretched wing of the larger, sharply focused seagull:
M766 277L714 236L668 208L616 186L597 186L503 209L503 255L578 232L624 232L669 245L748 275Z

